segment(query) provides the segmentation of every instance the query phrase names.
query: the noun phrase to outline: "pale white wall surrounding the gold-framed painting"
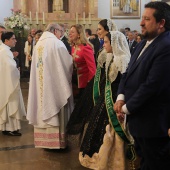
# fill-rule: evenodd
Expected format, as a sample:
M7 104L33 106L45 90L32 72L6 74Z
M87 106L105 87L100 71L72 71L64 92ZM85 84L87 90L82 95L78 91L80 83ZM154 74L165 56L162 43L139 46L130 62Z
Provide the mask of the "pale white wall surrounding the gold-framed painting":
M110 18L110 1L111 0L98 0L98 17L99 18ZM150 0L141 0L141 15L144 10L144 5L150 2ZM118 28L129 27L132 30L140 31L140 19L114 19Z

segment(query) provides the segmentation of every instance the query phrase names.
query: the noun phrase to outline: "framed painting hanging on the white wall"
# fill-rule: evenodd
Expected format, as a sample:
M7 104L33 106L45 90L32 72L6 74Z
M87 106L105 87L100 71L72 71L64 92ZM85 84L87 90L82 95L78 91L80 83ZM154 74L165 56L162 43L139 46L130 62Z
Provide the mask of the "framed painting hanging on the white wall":
M110 0L111 18L140 18L141 0Z

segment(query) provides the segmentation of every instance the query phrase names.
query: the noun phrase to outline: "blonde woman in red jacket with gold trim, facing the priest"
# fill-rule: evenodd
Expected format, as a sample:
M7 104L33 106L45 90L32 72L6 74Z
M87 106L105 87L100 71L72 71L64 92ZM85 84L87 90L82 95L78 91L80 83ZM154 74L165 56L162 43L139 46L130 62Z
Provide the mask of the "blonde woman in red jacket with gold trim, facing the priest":
M85 36L82 25L72 25L69 33L71 55L77 72L78 98L81 96L87 83L96 73L93 46Z

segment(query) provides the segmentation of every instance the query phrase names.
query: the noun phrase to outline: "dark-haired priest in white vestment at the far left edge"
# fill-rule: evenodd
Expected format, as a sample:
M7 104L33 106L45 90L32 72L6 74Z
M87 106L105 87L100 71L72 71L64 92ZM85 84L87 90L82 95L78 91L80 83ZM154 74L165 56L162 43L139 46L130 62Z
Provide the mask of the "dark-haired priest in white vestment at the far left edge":
M3 33L0 45L0 131L4 135L21 136L20 121L25 118L25 107L20 88L20 72L10 48L15 47L13 32Z

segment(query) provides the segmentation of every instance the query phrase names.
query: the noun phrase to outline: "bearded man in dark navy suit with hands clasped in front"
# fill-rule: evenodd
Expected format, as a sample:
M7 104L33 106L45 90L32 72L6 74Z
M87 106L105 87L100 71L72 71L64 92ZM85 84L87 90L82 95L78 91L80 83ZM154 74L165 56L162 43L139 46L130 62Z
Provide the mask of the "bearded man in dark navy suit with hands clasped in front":
M140 23L145 40L132 53L114 109L127 116L141 170L170 169L170 6L149 2Z

